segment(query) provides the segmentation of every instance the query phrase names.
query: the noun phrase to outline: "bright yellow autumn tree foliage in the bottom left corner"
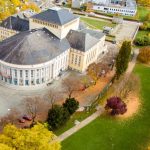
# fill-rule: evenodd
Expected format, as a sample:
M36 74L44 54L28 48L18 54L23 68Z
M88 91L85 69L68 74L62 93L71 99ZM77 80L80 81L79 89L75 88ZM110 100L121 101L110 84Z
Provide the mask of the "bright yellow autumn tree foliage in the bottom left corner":
M53 141L54 138L55 135L42 124L31 129L9 124L0 135L0 143L4 147L2 150L60 150L60 143Z

